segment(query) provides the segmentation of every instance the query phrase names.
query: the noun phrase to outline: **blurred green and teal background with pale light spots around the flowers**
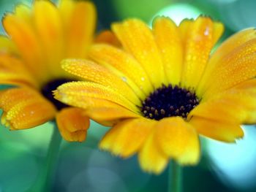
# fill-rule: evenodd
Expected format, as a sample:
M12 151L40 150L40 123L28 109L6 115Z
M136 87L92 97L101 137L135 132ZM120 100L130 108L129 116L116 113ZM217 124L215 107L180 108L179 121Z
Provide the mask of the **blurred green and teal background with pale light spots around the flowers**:
M0 0L0 14L15 4L31 1ZM256 27L255 0L95 0L98 31L113 21L167 15L176 23L184 18L210 15L225 23L222 40L242 28ZM1 27L1 34L4 31ZM43 169L53 126L24 131L0 128L0 192L27 191ZM256 191L256 128L244 126L245 137L236 144L201 138L203 156L198 166L184 167L184 191ZM137 157L127 160L97 149L108 128L91 122L86 142L61 143L53 191L142 192L166 191L167 171L159 176L143 173Z

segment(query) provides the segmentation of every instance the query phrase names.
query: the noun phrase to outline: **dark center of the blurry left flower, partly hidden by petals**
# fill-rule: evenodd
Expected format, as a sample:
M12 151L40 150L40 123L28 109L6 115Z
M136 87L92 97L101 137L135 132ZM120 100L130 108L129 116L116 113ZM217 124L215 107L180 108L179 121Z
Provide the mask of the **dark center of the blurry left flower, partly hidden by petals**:
M53 92L56 90L56 88L59 87L59 85L65 83L65 82L70 82L72 80L68 79L57 79L57 80L52 80L48 83L46 83L42 89L41 93L43 96L45 96L46 99L48 99L54 106L57 108L57 110L61 110L64 107L68 107L67 104L63 104L60 101L56 100L53 98Z

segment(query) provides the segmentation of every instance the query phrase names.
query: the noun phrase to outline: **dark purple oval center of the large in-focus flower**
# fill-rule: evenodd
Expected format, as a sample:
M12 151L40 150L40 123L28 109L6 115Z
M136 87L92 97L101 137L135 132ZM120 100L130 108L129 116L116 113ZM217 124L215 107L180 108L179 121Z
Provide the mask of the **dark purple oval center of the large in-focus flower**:
M145 118L160 120L162 118L180 116L187 118L189 112L199 104L195 92L177 85L162 85L143 101L140 108Z

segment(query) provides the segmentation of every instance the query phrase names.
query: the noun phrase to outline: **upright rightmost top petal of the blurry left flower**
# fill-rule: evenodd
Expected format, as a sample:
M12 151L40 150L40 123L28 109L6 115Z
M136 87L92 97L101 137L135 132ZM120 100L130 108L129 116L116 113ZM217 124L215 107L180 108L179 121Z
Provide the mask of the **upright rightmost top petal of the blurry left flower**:
M94 4L64 0L59 9L67 31L67 57L84 58L93 40L96 23Z

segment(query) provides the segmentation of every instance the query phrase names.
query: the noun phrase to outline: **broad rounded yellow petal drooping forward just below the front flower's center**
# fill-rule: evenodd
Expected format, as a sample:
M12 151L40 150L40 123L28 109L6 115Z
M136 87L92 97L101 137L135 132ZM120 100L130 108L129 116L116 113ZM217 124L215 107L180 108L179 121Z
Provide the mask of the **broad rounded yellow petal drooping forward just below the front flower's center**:
M156 140L162 151L180 164L197 164L200 142L195 128L182 118L164 118L157 123Z

